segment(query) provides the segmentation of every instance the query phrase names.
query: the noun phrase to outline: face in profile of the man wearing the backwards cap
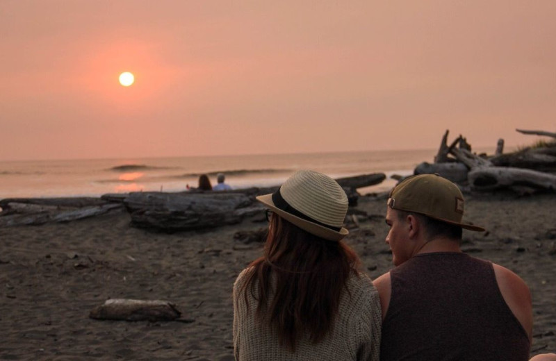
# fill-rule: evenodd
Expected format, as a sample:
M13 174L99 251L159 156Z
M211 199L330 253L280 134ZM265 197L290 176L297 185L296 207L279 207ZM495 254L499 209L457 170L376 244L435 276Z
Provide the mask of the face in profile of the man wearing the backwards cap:
M389 244L392 251L393 264L399 266L409 260L413 252L412 242L409 240L409 222L407 219L400 220L398 211L387 207L386 224L390 227L389 233L386 235L386 243Z

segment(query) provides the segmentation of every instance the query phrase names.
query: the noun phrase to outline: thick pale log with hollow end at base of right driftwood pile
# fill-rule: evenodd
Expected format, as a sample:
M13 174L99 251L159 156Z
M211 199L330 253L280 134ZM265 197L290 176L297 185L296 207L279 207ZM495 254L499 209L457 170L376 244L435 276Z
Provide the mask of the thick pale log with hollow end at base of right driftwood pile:
M506 187L531 187L556 190L556 175L511 167L475 167L468 174L473 190L498 190Z

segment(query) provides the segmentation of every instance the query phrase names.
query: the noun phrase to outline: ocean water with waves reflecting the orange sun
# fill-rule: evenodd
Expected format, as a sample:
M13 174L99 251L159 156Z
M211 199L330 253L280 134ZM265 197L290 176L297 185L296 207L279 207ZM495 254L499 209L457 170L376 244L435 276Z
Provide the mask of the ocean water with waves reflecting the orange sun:
M362 151L344 153L268 154L256 156L199 156L93 160L0 162L0 199L15 197L101 196L107 193L179 192L197 187L200 174L213 185L226 174L234 189L283 183L298 169L313 169L332 178L384 173L379 185L362 194L384 192L407 176L420 162L432 162L436 150Z

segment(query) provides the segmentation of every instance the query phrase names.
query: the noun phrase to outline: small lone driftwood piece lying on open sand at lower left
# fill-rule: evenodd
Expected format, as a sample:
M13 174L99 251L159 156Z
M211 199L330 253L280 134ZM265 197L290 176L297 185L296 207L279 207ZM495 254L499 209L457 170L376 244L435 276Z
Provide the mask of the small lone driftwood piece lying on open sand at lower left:
M91 310L92 319L112 319L123 321L172 321L181 312L168 301L142 301L133 299L111 299L104 305Z

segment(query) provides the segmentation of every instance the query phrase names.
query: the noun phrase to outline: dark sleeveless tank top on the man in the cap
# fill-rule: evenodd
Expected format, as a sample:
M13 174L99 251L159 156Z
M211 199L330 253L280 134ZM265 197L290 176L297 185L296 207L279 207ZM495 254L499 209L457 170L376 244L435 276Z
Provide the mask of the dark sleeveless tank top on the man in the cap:
M381 361L529 359L528 335L504 301L491 262L423 253L390 276Z

